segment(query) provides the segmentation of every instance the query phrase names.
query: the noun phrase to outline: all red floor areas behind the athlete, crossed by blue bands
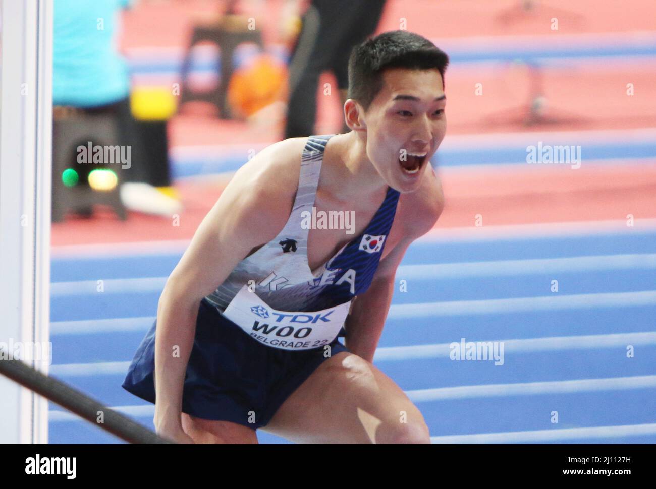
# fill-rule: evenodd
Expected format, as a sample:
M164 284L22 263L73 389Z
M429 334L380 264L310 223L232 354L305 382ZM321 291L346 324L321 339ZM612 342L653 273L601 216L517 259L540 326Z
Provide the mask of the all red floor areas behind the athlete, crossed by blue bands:
M277 1L262 12L260 27L265 38L273 39ZM390 0L379 31L398 29L400 18L407 29L431 39L512 35L560 35L653 31L656 3L621 1L599 3L579 0L543 2L535 14L510 16L504 24L499 15L518 1L485 0ZM144 4L125 16L123 45L134 47L183 47L190 26L190 10L208 12L214 2L171 1ZM464 8L463 8L464 5ZM560 10L558 10L560 9ZM573 15L565 12L574 12ZM554 13L555 12L555 13ZM588 13L586 13L588 12ZM591 15L590 12L594 13ZM205 14L207 15L207 14ZM558 31L550 30L550 18L559 20ZM256 17L257 18L257 17ZM558 123L530 127L533 131L626 129L656 127L656 85L654 66L621 65L581 68L547 68L543 71L544 92L550 111L562 118ZM324 73L324 81L332 75ZM474 94L476 83L483 84L483 95ZM626 84L633 83L634 96L626 95ZM501 113L519 108L529 99L529 74L521 66L463 68L447 71L447 116L449 134L518 132L526 127ZM335 98L319 94L316 134L337 132L341 110ZM518 112L520 115L523 111ZM207 117L176 117L170 127L171 146L216 144L268 144L281 137L280 127L255 129L238 121L218 121ZM623 220L656 218L656 161L640 165L569 166L514 165L512 167L470 168L442 172L447 208L438 227L474 224L482 214L485 225L575 222L584 220ZM52 225L52 245L85 243L123 243L131 241L190 239L197 225L215 203L225 182L215 179L176 183L184 211L180 225L172 220L131 213L120 222L106 212L92 220L68 218Z

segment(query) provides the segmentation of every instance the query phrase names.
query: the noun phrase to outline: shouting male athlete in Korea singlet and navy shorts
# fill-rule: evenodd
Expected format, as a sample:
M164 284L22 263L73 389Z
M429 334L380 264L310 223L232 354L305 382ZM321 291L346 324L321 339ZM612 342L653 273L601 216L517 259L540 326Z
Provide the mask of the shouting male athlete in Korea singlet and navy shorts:
M365 41L348 66L350 132L283 140L239 168L123 382L155 403L157 433L430 442L417 407L371 362L401 258L443 208L429 159L446 130L448 62L408 31ZM354 232L312 225L328 211L354 211Z

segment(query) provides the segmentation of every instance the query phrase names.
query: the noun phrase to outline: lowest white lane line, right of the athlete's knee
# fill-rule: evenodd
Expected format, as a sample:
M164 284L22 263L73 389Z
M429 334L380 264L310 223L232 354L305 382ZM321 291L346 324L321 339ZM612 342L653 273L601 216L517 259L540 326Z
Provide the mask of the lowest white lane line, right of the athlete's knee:
M556 440L622 438L656 435L656 423L640 425L594 426L586 428L541 429L537 431L508 431L477 435L446 435L430 437L431 443L522 443Z

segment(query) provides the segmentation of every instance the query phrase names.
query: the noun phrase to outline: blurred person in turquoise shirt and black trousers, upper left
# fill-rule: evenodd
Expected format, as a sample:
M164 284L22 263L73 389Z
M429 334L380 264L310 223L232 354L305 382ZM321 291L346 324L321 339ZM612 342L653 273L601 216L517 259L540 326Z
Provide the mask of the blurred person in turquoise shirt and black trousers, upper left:
M129 69L118 49L121 9L132 3L133 0L54 0L52 142L54 146L62 144L58 137L60 119L74 117L76 113L110 117L117 140L104 139L96 144L131 148L131 166L119 169L121 200L129 208L138 208L131 205L134 199L126 197L127 189L133 188L126 183L148 182L148 159L131 112ZM143 200L140 196L138 199Z

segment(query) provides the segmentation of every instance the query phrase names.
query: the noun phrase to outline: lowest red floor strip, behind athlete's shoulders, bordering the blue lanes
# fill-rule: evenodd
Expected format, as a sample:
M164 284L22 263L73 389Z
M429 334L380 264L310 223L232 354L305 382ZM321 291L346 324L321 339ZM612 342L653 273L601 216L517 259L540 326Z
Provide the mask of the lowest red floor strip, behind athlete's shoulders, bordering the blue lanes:
M445 172L442 177L447 206L438 227L536 224L656 218L656 161L651 165L525 165L500 169ZM92 220L70 219L52 226L53 245L126 243L190 239L214 205L219 182L180 183L186 206L179 227L172 219L132 213L120 222L106 212Z

